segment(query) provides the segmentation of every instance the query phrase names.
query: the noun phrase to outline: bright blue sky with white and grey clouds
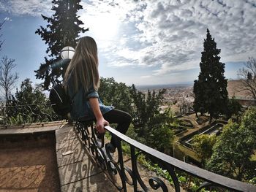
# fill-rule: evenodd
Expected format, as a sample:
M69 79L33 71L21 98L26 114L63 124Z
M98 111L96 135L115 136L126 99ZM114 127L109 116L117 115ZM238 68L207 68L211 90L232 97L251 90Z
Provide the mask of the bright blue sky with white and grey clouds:
M99 73L127 85L193 82L206 29L222 50L225 76L256 57L256 0L82 0L78 12L99 47ZM15 58L20 80L35 80L46 45L34 31L52 15L51 1L1 0L0 55Z

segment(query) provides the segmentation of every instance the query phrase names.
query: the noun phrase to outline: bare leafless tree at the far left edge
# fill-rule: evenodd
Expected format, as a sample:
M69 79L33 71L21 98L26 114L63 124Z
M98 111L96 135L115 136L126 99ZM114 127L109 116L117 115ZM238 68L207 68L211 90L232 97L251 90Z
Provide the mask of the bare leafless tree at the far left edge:
M6 101L6 106L8 104L8 98L12 89L15 87L15 83L18 80L18 73L12 73L12 70L15 68L15 59L7 58L7 56L3 56L1 58L0 64L0 87L4 89L4 97Z

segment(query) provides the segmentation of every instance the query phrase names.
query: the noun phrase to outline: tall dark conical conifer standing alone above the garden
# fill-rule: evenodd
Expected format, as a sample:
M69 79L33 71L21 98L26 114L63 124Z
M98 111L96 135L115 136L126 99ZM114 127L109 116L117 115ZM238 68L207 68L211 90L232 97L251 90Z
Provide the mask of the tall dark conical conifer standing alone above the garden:
M194 83L194 109L201 114L208 112L210 122L227 110L227 79L224 77L225 64L219 62L220 49L207 29L200 62L200 74Z

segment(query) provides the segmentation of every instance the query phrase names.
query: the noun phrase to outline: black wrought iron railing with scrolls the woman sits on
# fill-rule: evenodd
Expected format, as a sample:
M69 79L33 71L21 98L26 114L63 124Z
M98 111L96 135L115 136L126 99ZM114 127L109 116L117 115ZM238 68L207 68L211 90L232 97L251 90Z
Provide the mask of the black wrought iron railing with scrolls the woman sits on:
M146 155L148 159L154 161L154 163L161 166L170 174L175 191L181 191L181 184L178 181L177 172L184 172L203 180L202 184L197 188L197 191L208 188L215 191L256 191L255 185L232 180L179 161L176 158L165 155L121 134L110 126L106 126L105 129L110 132L112 137L115 137L116 141L119 141L116 158L110 155L110 150L108 149L109 145L104 145L104 137L101 137L101 141L99 142L92 122L75 122L75 131L80 137L83 146L89 150L94 160L103 170L110 176L114 176L110 177L110 179L119 191L127 191L128 185L132 186L133 191L151 191L157 189L168 191L168 186L160 177L151 177L148 179L148 183L143 181L140 170L138 169L138 157L142 154ZM130 168L125 165L121 142L126 142L130 147L129 156L132 161ZM119 182L116 180L116 177L119 178Z

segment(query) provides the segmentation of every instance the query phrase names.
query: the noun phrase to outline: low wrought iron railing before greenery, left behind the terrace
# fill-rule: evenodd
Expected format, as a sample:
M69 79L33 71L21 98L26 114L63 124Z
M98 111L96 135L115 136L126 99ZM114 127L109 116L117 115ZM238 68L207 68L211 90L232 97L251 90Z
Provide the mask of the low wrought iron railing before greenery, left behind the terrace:
M46 123L56 120L61 120L61 117L53 112L50 103L0 107L1 126L25 126L31 123Z

